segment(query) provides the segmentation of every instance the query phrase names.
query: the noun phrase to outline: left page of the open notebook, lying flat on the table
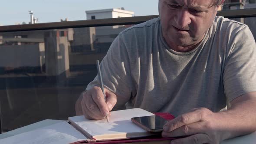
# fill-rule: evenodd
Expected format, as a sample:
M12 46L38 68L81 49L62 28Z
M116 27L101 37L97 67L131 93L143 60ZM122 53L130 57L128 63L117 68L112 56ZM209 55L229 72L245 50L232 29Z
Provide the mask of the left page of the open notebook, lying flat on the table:
M60 122L0 139L0 144L69 144L87 139L68 122Z

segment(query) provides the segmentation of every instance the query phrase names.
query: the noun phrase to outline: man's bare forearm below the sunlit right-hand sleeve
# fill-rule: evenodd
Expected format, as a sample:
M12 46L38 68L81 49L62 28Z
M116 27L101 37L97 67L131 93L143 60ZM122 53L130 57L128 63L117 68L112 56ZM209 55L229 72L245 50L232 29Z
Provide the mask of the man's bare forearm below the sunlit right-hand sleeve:
M231 108L217 113L223 129L222 140L256 131L256 92L236 98Z

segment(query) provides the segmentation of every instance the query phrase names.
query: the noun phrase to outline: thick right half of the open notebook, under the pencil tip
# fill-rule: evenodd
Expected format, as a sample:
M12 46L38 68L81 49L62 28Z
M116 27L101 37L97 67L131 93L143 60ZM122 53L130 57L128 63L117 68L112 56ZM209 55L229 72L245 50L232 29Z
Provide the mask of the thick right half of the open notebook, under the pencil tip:
M84 116L69 117L69 121L92 141L106 141L155 135L131 122L131 118L154 115L141 108L112 111L109 123L106 119L93 121Z

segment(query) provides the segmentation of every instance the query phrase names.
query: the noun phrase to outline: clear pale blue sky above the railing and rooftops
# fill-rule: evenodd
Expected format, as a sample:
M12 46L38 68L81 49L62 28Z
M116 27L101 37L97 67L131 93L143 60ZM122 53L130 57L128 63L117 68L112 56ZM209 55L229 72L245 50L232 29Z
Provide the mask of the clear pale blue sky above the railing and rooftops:
M157 15L158 0L3 0L0 4L0 25L29 23L32 10L38 23L86 20L85 10L121 8L135 16Z

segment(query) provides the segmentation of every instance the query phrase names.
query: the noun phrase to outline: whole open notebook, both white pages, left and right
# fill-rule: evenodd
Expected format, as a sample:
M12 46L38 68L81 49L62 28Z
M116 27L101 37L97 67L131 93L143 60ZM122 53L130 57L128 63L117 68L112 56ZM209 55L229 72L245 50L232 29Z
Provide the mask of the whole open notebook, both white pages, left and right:
M106 119L93 121L85 119L84 116L75 116L70 117L69 121L0 139L0 144L69 144L78 141L112 141L151 136L154 133L145 131L131 122L132 117L149 115L154 114L140 108L112 111L109 123Z

